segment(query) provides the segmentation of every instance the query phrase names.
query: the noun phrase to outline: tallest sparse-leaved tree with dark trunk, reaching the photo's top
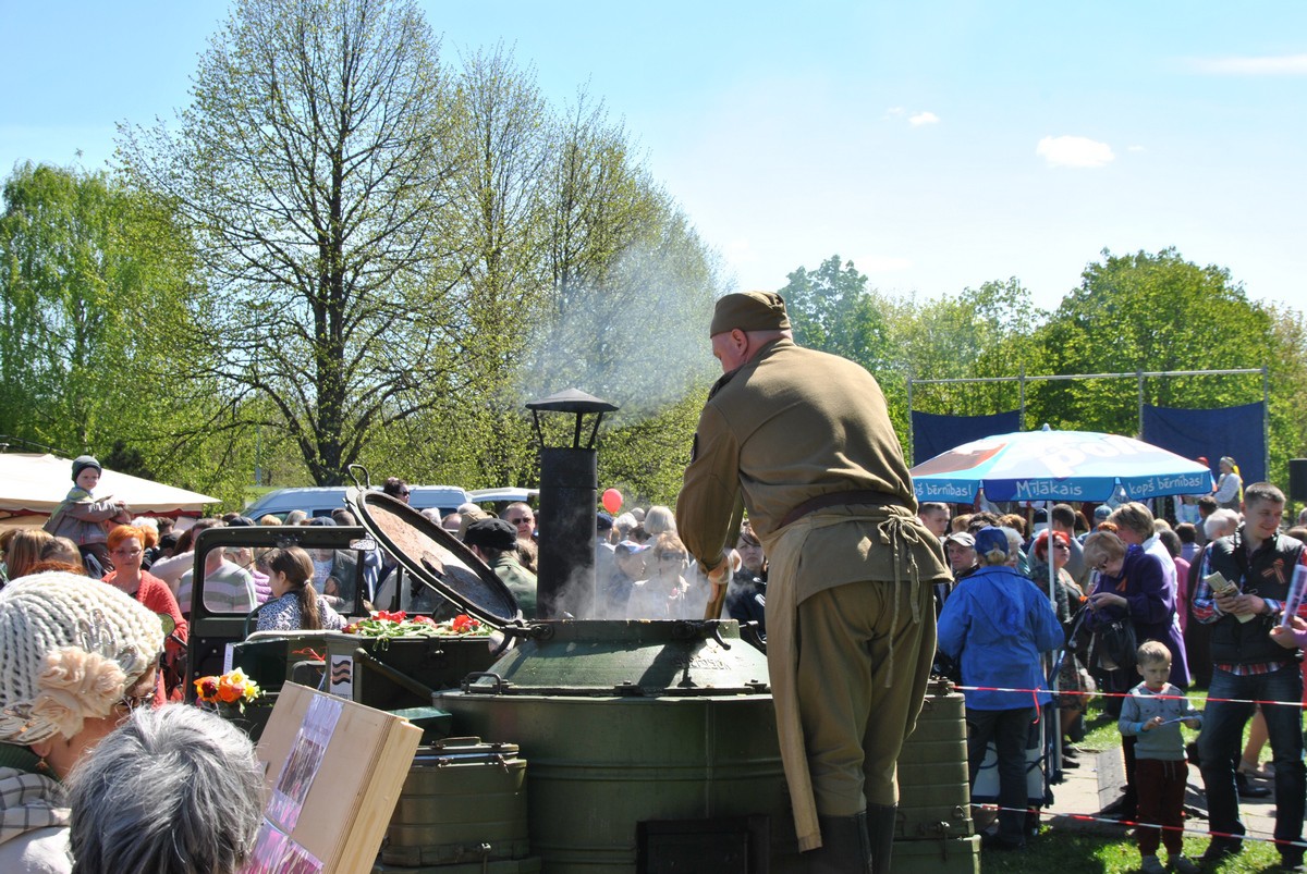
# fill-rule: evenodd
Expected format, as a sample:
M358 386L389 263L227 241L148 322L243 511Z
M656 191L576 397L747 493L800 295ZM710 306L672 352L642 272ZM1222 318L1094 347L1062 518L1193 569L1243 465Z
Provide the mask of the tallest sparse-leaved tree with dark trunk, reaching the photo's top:
M457 384L461 155L437 42L410 1L238 0L192 95L175 135L124 128L119 149L196 235L213 321L187 376L336 483Z

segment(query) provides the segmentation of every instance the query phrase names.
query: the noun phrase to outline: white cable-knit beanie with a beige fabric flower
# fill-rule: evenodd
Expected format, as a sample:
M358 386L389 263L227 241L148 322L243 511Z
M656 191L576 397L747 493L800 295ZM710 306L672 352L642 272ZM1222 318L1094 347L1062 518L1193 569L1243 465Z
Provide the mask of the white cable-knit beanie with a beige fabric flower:
M112 585L52 571L0 591L0 742L76 737L163 648L157 614Z

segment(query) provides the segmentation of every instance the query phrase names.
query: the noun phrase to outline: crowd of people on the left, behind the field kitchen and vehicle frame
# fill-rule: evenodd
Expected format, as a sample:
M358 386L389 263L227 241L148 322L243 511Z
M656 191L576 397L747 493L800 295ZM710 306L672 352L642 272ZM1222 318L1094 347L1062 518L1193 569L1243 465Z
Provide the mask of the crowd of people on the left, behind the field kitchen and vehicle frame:
M93 457L77 459L74 489L61 511L44 528L12 528L0 536L4 555L0 584L5 579L59 570L115 585L170 618L170 665L179 662L186 647L195 588L195 538L201 532L221 526L357 524L349 510L339 508L319 517L303 511L260 519L226 513L174 530L171 519L131 519L123 502L97 499L93 491L98 473L99 464ZM392 477L382 490L408 503L409 487L404 479ZM443 516L438 510L423 510L422 515L465 543L494 571L524 618L535 617L540 530L529 504L510 503L498 515L474 503ZM77 520L76 525L69 520ZM725 613L757 623L761 636L767 571L762 546L748 524L737 546ZM674 513L664 506L633 507L616 517L597 513L595 574L595 593L583 618L703 618L711 592L677 534ZM332 630L344 624L341 613L346 607L356 611L389 607L397 563L384 550L220 547L205 554L203 575L204 602L210 613L256 611L257 631ZM361 597L356 600L356 594ZM403 594L403 609L437 607L425 589ZM178 700L179 672L171 672L170 678L163 696Z

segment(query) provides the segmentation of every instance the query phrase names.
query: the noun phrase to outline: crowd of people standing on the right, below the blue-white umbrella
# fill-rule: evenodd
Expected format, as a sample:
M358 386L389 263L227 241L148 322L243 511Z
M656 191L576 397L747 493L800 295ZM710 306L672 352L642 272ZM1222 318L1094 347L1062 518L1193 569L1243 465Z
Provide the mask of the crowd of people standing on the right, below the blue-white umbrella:
M1231 459L1221 460L1221 470L1212 495L1175 502L1176 511L1192 507L1196 521L1174 525L1138 502L1099 506L1090 516L1068 504L1047 515L957 516L946 504L920 506L953 571L935 591L936 670L963 686L972 780L987 751L997 759L997 800L1006 815L985 835L988 847L1021 848L1038 828L1034 817L1012 811L1038 806L1026 797L1026 763L1038 736L1031 726L1050 692L1059 695L1063 767L1074 768L1085 703L1102 691L1104 711L1119 720L1127 775L1123 796L1104 815L1163 826L1137 830L1145 871L1199 870L1183 857L1175 831L1189 759L1199 766L1214 834L1204 861L1242 849L1240 797L1273 793L1282 867L1304 870L1307 698L1298 653L1307 640L1307 606L1291 601L1290 585L1295 572L1307 577L1307 511L1286 526L1285 495L1276 486L1246 486ZM1025 533L1027 521L1034 537ZM1208 687L1202 713L1184 698L1195 682ZM1180 724L1201 726L1188 749ZM1268 741L1272 762L1261 767ZM1252 776L1272 779L1273 788Z

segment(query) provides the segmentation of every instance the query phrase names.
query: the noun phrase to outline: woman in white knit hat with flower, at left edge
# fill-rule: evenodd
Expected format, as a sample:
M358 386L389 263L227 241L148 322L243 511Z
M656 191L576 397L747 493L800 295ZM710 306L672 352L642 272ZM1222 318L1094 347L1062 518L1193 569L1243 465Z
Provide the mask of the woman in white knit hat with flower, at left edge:
M154 700L159 618L84 576L0 591L0 871L71 871L61 781Z

